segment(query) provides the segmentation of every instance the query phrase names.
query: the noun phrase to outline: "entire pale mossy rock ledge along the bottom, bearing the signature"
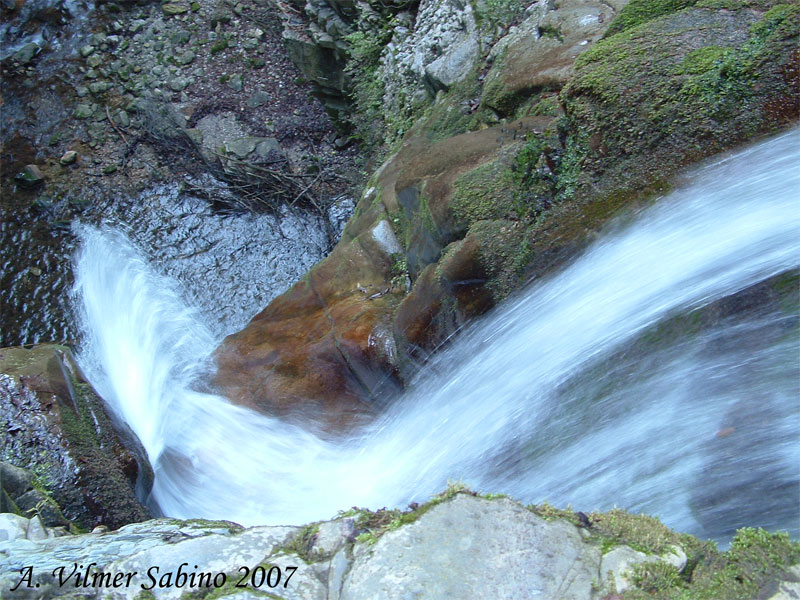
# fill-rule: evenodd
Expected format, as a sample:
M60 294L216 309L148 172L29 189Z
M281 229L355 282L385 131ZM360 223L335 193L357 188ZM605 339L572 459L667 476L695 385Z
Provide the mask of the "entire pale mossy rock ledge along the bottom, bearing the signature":
M797 588L800 546L763 530L741 530L720 553L652 517L624 514L616 528L595 528L621 511L583 515L581 524L580 513L463 488L406 512L349 512L302 528L155 519L83 535L0 515L0 589L9 600L73 597L76 589L105 600L601 600L615 597L617 582L636 597L659 589L669 597L778 599ZM687 564L688 580L679 575Z

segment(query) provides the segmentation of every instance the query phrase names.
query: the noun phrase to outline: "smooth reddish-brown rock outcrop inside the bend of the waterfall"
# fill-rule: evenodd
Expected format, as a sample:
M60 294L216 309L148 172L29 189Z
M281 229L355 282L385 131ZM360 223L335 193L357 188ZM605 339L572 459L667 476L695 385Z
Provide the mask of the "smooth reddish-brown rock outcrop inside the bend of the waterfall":
M433 145L424 137L409 140L368 187L330 256L226 338L216 377L226 396L268 414L302 414L326 428L372 413L378 399L399 389L410 346L431 348L494 305L485 287L495 279L496 257L476 249L479 240L503 236L513 247L516 230L510 222L478 228L443 257L471 225L449 205L453 182L504 146L519 145L525 131L551 122L533 117L510 125L519 140L501 128ZM415 290L430 286L406 298L409 275ZM449 321L428 339L443 305Z

